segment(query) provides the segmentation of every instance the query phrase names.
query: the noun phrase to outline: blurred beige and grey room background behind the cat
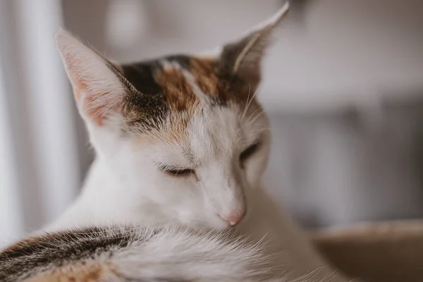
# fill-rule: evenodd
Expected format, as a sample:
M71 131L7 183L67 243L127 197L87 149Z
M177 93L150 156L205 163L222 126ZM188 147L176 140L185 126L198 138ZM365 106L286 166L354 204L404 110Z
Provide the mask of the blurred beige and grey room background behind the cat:
M264 181L308 228L423 216L423 1L293 0L264 62ZM93 158L59 26L128 62L210 49L282 0L0 0L0 242L56 219Z

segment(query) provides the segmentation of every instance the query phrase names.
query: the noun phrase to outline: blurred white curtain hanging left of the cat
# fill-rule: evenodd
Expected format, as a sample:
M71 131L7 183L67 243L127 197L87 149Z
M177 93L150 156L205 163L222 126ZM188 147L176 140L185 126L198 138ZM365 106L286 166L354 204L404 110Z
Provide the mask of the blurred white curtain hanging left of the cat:
M73 101L54 44L61 1L0 1L0 243L55 219L80 185Z

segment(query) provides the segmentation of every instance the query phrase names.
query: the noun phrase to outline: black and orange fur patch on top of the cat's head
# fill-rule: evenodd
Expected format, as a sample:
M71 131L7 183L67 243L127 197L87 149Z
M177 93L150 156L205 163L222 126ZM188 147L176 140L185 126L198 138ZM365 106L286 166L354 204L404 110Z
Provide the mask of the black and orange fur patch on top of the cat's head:
M234 102L244 109L248 85L243 85L246 90L233 87L233 81L221 75L219 66L216 58L182 55L122 66L120 70L137 90L128 91L126 131L158 130L154 135L166 131L168 141L179 142L186 137L193 115L200 114L198 109L203 106L211 109Z

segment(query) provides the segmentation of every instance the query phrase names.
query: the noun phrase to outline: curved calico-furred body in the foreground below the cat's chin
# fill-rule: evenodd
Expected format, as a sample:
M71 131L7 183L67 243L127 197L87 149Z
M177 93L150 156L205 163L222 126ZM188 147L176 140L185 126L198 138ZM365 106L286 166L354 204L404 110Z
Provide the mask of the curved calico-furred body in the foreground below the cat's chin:
M125 226L44 233L0 251L3 282L307 282L288 280L262 243L213 231Z

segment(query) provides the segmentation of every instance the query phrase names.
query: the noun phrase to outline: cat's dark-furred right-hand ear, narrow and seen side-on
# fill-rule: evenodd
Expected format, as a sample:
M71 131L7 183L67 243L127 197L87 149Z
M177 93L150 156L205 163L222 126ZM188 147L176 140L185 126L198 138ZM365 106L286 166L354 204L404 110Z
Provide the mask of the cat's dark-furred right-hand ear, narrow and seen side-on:
M271 18L247 36L223 46L219 58L219 72L227 78L240 78L258 85L261 78L261 63L269 46L275 27L288 12L288 1Z

